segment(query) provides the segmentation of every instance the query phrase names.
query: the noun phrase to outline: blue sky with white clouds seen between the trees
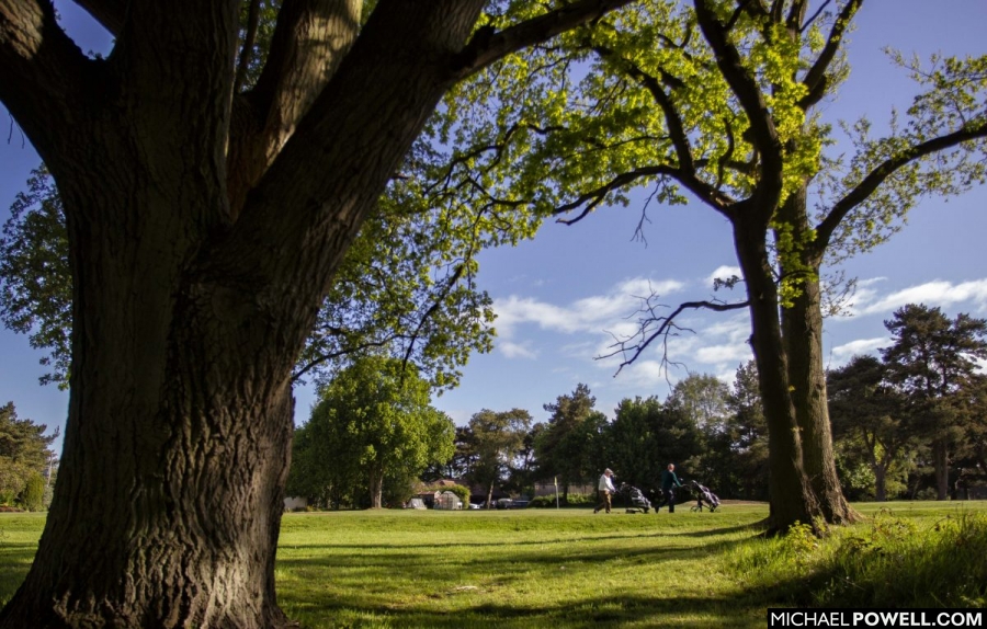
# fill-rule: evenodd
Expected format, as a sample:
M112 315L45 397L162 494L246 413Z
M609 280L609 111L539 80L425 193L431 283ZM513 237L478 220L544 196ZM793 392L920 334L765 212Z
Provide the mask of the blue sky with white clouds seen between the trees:
M109 37L79 16L71 2L56 7L86 50L105 50ZM865 3L850 36L851 77L839 98L825 105L829 122L866 115L880 129L893 106L910 104L911 83L882 49L898 48L928 57L983 55L987 0L887 0ZM5 110L3 111L5 114ZM7 116L10 121L9 116ZM0 221L23 190L38 158L15 125L0 142ZM3 138L7 140L7 138ZM665 397L669 381L688 371L731 378L750 357L746 312L690 317L694 334L670 345L670 358L685 367L663 374L659 355L649 353L614 377L614 361L594 359L626 331L638 302L650 289L671 307L713 296L712 277L737 266L725 219L699 205L648 210L647 244L633 241L639 206L603 208L575 226L547 224L538 236L515 248L480 255L479 283L495 299L498 340L492 353L474 356L462 386L435 400L457 423L484 409L529 410L536 420L542 405L586 382L597 408L613 415L625 397ZM859 278L852 317L827 320L825 350L829 366L854 353L887 344L883 321L908 302L940 306L950 316L987 317L987 190L948 203L926 198L909 215L908 226L875 251L842 268ZM22 418L49 427L63 425L68 394L37 384L41 354L26 336L0 330L0 403L13 401ZM688 371L687 371L688 368ZM296 421L314 400L296 391Z

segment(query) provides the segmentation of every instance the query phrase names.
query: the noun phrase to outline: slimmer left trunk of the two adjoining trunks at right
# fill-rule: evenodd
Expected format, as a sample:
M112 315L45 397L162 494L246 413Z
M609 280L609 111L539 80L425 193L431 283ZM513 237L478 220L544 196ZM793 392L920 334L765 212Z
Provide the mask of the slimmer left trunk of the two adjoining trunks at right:
M737 259L744 272L750 301L750 345L758 366L758 385L768 423L769 529L786 530L795 523L815 526L818 502L803 471L802 441L789 390L789 369L779 322L778 287L771 265L764 227L734 225Z

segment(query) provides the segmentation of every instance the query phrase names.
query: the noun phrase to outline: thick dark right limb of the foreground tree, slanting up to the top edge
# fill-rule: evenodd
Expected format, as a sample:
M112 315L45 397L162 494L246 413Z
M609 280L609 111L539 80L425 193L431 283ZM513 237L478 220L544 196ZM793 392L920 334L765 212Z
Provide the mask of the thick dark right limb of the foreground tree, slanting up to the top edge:
M246 283L265 309L308 312L449 89L483 0L381 0L359 41L211 252L206 282ZM314 321L285 338L300 348ZM295 335L297 334L297 335ZM294 348L292 350L295 351Z

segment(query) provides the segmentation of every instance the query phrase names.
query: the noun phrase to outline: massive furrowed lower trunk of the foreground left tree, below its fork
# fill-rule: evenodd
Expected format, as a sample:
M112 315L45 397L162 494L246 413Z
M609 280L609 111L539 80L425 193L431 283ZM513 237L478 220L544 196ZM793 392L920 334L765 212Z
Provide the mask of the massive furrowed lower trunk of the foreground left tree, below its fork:
M279 356L290 347L270 342L252 291L194 262L203 235L168 220L171 208L205 214L218 182L132 174L135 153L100 163L99 183L61 179L69 418L44 536L2 625L277 627L293 354ZM101 213L113 219L93 220ZM281 338L306 324L282 320Z

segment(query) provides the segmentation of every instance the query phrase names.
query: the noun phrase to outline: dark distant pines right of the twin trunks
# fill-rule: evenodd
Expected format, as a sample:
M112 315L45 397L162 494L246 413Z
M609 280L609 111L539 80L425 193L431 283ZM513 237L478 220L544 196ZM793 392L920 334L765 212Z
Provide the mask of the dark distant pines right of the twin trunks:
M908 305L881 357L829 373L840 477L851 499L965 498L987 472L987 320Z

